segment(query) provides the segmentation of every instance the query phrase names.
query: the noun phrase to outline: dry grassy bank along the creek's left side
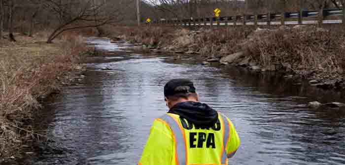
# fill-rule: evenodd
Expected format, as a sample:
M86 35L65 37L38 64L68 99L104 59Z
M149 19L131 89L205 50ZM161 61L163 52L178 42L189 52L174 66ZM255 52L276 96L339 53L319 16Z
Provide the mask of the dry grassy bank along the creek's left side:
M53 44L48 32L17 36L17 42L0 42L0 157L18 152L25 139L37 138L28 123L39 98L58 90L59 82L81 69L79 54L86 50L76 33L65 33Z

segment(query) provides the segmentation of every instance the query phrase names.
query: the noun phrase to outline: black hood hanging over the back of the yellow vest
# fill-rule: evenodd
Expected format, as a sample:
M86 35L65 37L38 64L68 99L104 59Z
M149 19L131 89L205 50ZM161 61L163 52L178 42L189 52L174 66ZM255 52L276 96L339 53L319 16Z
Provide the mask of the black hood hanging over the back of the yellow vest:
M218 112L201 102L179 102L168 113L177 114L196 126L211 127L218 121Z

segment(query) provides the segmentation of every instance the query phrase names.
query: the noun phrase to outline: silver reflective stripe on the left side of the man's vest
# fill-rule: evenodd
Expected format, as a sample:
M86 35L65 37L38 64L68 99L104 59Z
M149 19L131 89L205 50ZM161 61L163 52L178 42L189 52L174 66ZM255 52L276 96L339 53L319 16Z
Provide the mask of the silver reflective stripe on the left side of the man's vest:
M178 165L186 165L186 144L184 142L184 137L182 134L182 131L180 127L178 126L178 123L173 119L173 117L165 114L161 117L162 120L168 123L170 128L173 131L173 134L175 135L176 140L176 155L178 160Z

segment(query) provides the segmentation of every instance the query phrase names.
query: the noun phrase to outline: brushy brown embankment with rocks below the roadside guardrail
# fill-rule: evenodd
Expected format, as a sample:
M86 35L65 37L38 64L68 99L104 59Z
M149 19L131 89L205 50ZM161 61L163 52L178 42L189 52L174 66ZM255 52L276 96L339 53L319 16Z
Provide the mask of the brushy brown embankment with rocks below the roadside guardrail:
M326 82L326 88L344 83L344 32L341 26L325 29L276 27L259 31L253 27L198 31L154 26L107 28L110 36L165 50L190 51L205 59L244 52L233 65L245 64L242 66L249 68L256 65L261 71L282 71L287 75L316 79L320 86L324 85L321 82Z

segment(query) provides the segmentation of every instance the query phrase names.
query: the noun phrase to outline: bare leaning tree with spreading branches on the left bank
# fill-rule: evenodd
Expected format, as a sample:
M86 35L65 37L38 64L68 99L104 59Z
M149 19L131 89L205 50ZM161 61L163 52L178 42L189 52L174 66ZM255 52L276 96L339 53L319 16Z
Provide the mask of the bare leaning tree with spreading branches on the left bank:
M65 31L99 27L121 21L123 18L120 16L120 6L128 5L129 2L132 3L127 0L97 0L96 3L93 0L69 0L69 3L62 0L45 0L44 5L60 20L60 24L48 37L47 43L52 43L54 38Z

